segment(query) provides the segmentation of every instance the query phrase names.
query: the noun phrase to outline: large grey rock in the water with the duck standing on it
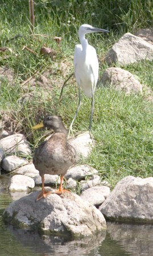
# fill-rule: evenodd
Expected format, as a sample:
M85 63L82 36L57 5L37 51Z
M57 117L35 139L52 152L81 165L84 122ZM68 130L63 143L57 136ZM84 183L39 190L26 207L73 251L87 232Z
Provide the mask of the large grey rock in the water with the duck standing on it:
M72 236L90 236L106 229L102 213L80 196L51 194L36 201L37 195L33 192L11 203L3 214L4 219L44 233L71 233Z

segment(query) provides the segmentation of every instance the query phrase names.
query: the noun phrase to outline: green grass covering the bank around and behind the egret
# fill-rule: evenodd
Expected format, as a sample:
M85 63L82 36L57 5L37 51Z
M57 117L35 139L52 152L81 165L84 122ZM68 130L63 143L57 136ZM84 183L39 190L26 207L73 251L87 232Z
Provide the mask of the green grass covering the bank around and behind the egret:
M31 126L46 113L61 115L69 127L75 114L78 93L75 81L64 89L63 98L58 102L60 88L73 72L73 52L78 43L77 29L81 23L93 24L110 30L109 35L90 35L89 43L96 47L100 60L100 77L107 65L105 53L127 31L151 26L152 1L35 1L36 24L32 36L28 20L28 1L5 1L0 5L0 41L1 46L12 49L0 52L0 67L13 68L15 80L12 85L7 80L1 82L0 119L5 115L13 123L13 129L26 135L32 150L48 135L47 131L31 131ZM77 5L79 2L80 5ZM6 4L7 3L7 4ZM59 6L55 5L58 3ZM65 1L64 1L65 3ZM102 5L102 6L101 6ZM138 8L139 7L139 8ZM82 13L81 10L84 10ZM9 15L8 15L9 13ZM94 13L94 15L93 15ZM22 38L7 42L17 34ZM61 36L60 48L52 39ZM40 48L46 44L57 51L55 59L40 55ZM23 46L33 49L33 54ZM59 66L69 63L71 68L66 74ZM141 61L128 65L126 70L138 77L139 81L152 88L152 62ZM21 83L38 71L49 71L53 80L51 89L36 86L32 88L21 86ZM22 102L24 93L33 93L31 101ZM88 159L82 159L100 171L102 179L106 179L114 187L118 180L127 175L147 177L152 176L153 157L153 114L152 102L146 100L143 94L126 96L113 88L98 87L95 93L95 111L93 116L92 133L96 141L92 154ZM82 96L82 105L73 125L74 131L85 131L89 126L90 99ZM9 129L6 122L6 129Z

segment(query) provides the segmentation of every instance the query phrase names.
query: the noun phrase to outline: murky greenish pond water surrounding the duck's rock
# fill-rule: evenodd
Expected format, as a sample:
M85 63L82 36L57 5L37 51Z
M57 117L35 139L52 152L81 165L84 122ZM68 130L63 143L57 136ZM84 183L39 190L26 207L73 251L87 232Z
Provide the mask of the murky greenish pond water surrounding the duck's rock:
M40 236L27 230L6 226L3 210L19 197L7 189L9 177L0 179L0 255L2 256L152 256L153 225L107 222L107 232L94 237L71 240L64 236ZM22 193L20 196L23 196Z

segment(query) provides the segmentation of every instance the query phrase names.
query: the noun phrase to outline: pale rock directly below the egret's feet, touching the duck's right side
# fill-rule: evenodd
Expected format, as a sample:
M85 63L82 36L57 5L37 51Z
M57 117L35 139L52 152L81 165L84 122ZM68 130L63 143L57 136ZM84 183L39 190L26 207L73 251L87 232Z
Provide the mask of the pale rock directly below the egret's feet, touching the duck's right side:
M93 140L90 137L89 131L77 135L75 139L69 139L68 142L75 148L77 152L77 161L80 156L88 158L93 147Z

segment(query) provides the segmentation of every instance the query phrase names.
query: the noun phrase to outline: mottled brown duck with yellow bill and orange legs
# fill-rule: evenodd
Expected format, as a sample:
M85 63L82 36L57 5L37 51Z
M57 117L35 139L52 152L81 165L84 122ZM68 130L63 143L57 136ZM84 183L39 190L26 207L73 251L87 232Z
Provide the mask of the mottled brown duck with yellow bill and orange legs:
M48 141L42 142L35 150L33 163L42 177L42 191L37 200L52 193L44 189L44 174L61 175L60 187L53 193L69 192L62 187L63 178L68 168L76 162L76 150L67 142L68 134L61 118L57 115L47 115L39 125L33 126L32 129L41 127L52 129L54 133Z

